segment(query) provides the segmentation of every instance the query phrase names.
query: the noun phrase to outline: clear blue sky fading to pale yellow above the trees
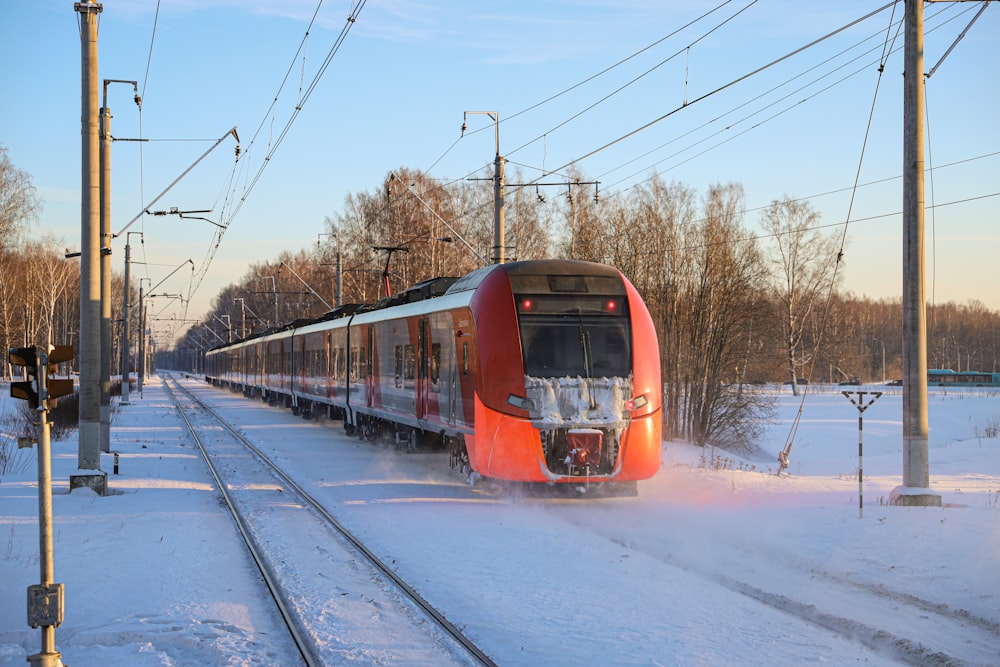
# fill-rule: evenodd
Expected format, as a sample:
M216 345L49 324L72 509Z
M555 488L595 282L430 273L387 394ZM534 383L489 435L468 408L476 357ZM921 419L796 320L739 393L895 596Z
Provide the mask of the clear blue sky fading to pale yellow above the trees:
M300 90L308 90L317 75L352 5L323 3L296 58L315 2L162 0L158 17L155 0L105 2L99 77L135 80L143 93L140 114L130 86L109 87L112 134L150 139L114 144L112 228L121 230L212 142L238 126L248 152L235 171L233 141L226 139L153 207L211 209L205 217L228 222L210 264L218 228L205 221L145 217L128 230L143 233L141 247L138 234L129 239L139 262L133 275L148 277L147 285L189 258L199 270L207 266L188 309L189 317L200 317L248 263L314 247L324 218L342 210L345 196L376 188L390 170L429 170L435 178L482 172L495 152L492 123L470 116L469 131L460 138L463 112L496 111L500 151L524 180L576 161L589 180L601 182L606 197L627 192L654 171L699 193L714 183L738 182L746 190L746 225L753 231L759 229L758 209L785 195L810 197L824 224L850 215L845 288L898 298L901 36L881 81L877 68L890 19L901 17L902 3L894 18L891 9L878 13L701 99L884 4L369 0L261 171L269 145L288 123ZM925 69L944 55L979 7L926 6ZM75 248L77 14L69 0L3 0L0 8L6 63L0 143L31 174L44 199L32 232L55 235ZM978 299L1000 309L998 56L1000 6L993 3L927 84L927 162L936 167L927 180L927 201L936 205L927 214L933 253L928 295L937 302ZM852 205L856 176L862 184L876 184L854 193ZM123 238L115 239L116 271L123 268L123 245ZM187 293L190 277L183 269L159 291ZM182 317L179 307L163 305L162 317Z

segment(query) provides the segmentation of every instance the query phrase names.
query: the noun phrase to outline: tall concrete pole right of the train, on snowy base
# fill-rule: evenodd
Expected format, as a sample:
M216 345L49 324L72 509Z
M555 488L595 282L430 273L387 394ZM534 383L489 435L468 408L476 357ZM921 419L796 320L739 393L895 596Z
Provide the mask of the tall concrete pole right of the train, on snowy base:
M903 485L893 505L940 507L931 493L924 289L924 6L906 0L903 50Z

